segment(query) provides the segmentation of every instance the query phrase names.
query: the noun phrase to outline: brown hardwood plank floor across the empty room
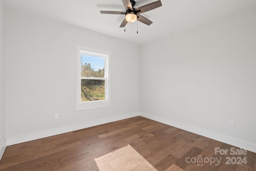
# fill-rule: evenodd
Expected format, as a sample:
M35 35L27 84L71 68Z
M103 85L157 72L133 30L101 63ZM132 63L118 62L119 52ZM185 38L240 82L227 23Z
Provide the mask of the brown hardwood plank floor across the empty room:
M135 170L134 165L158 171L256 171L256 153L245 153L138 116L8 146L0 171L124 171ZM104 164L108 167L102 169Z

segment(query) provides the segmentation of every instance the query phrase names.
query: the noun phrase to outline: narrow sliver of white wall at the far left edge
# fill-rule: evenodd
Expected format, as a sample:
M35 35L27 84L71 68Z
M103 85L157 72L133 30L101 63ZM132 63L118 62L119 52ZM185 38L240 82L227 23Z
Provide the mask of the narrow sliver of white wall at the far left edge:
M5 141L5 114L4 114L4 12L5 6L0 0L0 159Z

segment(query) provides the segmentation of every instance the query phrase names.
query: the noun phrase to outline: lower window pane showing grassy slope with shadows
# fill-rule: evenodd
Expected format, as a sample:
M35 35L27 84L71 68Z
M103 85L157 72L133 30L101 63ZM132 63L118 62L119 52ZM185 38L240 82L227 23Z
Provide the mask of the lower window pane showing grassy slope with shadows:
M105 99L105 80L81 80L81 102Z

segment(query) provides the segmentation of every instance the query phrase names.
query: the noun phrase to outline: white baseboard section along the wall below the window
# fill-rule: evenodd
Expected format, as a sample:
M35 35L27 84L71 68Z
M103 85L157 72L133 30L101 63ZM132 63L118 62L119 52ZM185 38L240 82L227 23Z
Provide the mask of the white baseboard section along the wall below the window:
M76 131L76 130L79 130L79 129L84 129L84 128L93 127L93 126L96 126L96 125L101 125L101 124L104 124L104 123L110 123L110 122L114 122L114 121L118 121L118 120L122 120L122 119L127 119L127 118L130 118L130 117L135 117L135 116L138 116L138 115L139 115L139 112L128 113L128 114L124 114L124 115L118 115L118 116L114 116L114 117L99 119L99 120L96 120L96 121L80 123L80 124L77 124L77 125L70 125L70 126L67 126L67 127L60 127L60 128L56 128L56 129L50 129L50 130L46 130L46 131L21 135L21 136L18 136L18 137L12 137L12 138L7 139L7 145L14 145L14 144L18 144L18 143L24 143L26 141L32 141L32 140L35 140L35 139L50 137L52 135L58 135L58 134L61 134L61 133Z

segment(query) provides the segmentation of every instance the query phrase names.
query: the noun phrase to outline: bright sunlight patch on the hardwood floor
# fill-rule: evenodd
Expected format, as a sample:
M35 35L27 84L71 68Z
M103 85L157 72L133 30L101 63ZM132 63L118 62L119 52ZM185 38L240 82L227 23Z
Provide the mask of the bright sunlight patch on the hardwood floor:
M100 171L157 171L130 145L94 159Z

